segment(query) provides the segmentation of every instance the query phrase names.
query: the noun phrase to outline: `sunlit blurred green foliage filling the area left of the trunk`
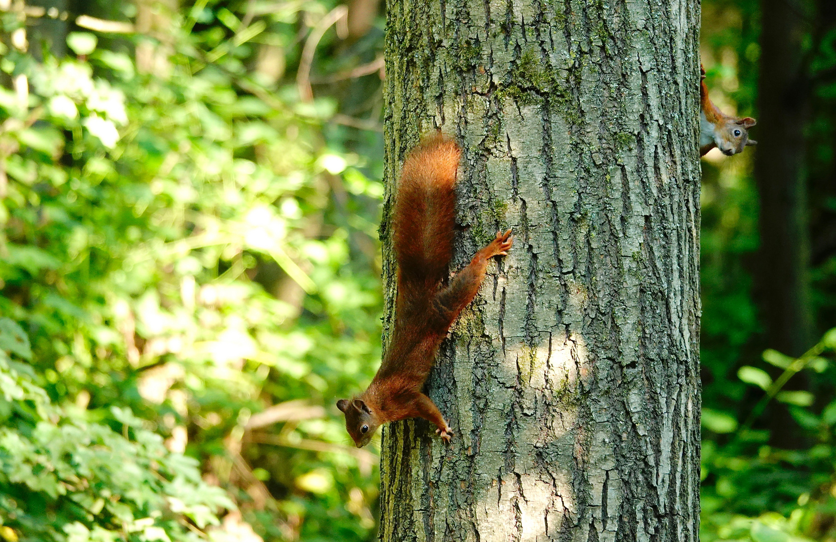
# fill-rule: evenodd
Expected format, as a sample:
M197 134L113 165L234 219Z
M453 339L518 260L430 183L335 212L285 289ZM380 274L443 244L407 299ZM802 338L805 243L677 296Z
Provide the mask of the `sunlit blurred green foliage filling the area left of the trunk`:
M379 136L260 60L294 67L335 4L250 4L4 45L0 536L374 535L375 456L333 403L380 357Z

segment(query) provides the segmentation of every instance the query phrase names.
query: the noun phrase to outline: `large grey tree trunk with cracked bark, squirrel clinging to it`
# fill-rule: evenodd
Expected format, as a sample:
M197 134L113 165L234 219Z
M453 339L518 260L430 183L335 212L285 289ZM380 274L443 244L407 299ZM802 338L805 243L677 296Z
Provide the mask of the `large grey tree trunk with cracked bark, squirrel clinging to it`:
M462 146L451 268L497 230L516 241L428 381L451 445L422 420L385 428L381 539L696 542L699 2L387 17L387 201L441 127ZM388 333L390 251L384 280Z

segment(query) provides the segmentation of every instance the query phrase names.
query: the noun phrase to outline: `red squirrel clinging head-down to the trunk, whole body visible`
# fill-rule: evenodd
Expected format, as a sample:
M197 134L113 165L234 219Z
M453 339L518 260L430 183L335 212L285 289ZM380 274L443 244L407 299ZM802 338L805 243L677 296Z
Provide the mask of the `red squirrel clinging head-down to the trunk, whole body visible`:
M442 284L453 251L458 165L458 145L440 134L424 139L404 162L392 220L398 264L395 331L369 388L337 402L358 448L383 423L405 418L429 420L448 443L453 435L421 388L447 330L482 285L488 261L506 256L513 242L511 230L497 232L496 239Z

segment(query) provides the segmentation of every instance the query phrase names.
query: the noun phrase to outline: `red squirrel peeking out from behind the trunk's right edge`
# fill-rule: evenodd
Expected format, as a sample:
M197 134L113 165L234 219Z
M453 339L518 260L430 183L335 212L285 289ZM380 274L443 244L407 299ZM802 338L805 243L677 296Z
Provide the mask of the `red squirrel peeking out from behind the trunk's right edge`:
M738 119L724 114L708 98L706 68L700 64L700 156L715 147L726 156L743 152L743 147L757 144L749 139L749 129L757 121L752 117Z

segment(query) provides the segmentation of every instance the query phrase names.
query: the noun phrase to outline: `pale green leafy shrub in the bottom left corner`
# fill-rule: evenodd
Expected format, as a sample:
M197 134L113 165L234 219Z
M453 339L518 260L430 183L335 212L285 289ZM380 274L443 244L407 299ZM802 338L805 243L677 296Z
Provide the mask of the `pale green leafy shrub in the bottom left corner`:
M0 518L23 540L197 540L234 509L128 409L111 408L122 433L55 407L33 383L28 339L0 319ZM8 539L8 531L3 535ZM222 539L212 536L212 539Z

